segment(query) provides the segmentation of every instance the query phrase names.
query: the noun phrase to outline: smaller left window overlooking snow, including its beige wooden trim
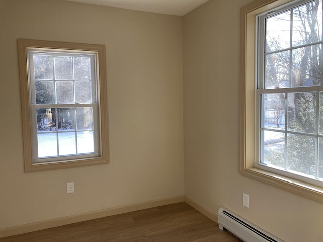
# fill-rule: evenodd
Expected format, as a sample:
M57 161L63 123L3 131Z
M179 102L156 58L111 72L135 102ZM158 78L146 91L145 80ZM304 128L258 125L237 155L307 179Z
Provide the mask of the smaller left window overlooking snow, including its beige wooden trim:
M104 46L18 40L25 171L108 162Z

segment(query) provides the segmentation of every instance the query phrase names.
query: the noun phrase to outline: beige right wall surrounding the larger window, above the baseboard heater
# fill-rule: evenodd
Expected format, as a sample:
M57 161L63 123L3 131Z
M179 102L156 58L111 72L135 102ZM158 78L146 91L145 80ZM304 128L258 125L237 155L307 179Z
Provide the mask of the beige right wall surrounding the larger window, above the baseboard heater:
M249 2L210 0L183 18L185 196L284 241L322 241L322 204L239 173L239 9Z

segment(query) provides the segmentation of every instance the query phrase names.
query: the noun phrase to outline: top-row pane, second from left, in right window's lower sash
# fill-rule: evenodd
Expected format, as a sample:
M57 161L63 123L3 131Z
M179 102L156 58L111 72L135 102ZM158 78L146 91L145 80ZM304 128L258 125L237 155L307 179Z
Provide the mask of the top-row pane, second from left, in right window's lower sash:
M288 130L316 133L316 93L288 93Z

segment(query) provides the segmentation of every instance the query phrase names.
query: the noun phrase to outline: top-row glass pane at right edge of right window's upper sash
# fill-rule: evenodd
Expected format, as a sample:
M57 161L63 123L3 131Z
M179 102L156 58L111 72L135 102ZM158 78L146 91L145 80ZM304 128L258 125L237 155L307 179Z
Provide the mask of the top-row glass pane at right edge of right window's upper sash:
M293 46L321 40L322 1L312 1L293 10Z

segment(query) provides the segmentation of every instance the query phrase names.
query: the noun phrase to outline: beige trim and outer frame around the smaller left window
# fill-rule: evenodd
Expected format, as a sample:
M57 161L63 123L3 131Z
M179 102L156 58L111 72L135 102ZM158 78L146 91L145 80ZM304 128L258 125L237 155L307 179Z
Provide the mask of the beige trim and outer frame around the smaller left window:
M98 125L99 142L98 155L96 157L75 157L72 160L57 160L55 162L33 162L33 143L32 143L32 118L30 111L31 93L29 92L28 79L28 49L43 48L48 50L60 51L68 50L70 52L92 52L96 54L97 63L97 85L99 92L97 93L98 104ZM106 164L109 163L109 144L107 131L107 88L106 88L106 61L105 46L95 44L79 44L54 41L40 41L18 39L18 55L20 70L20 89L21 89L21 107L22 107L22 126L23 126L23 145L24 145L24 164L25 172L42 171L51 169L71 168L87 165ZM71 157L71 156L70 156Z

